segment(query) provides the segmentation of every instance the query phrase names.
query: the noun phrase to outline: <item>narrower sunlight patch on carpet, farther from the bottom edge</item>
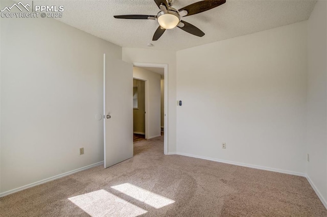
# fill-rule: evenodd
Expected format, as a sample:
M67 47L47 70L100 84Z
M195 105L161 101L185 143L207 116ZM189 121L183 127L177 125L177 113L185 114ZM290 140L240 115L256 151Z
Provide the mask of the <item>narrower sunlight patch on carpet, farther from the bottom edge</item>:
M143 189L141 187L135 186L130 183L111 186L111 188L129 197L132 197L138 201L144 202L145 204L148 204L156 209L175 203L174 200L157 195L155 193L152 193L146 189Z

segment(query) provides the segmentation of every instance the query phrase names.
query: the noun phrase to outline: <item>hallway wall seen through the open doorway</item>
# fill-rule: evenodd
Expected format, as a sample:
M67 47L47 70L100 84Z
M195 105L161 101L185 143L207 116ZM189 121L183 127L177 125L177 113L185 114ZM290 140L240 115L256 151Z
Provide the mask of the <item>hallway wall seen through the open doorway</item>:
M147 139L160 137L160 74L133 67L133 77L147 80Z

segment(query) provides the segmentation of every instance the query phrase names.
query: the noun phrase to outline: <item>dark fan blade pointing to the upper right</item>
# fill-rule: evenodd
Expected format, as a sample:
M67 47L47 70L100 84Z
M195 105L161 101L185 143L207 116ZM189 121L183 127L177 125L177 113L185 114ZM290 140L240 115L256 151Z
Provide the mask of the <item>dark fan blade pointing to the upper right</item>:
M193 14L198 14L203 11L207 11L213 8L216 8L222 4L224 4L226 0L204 0L200 2L193 3L191 5L188 5L184 8L179 9L178 11L187 11L188 14L185 16L190 16Z

